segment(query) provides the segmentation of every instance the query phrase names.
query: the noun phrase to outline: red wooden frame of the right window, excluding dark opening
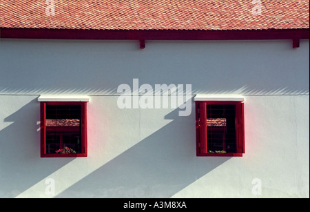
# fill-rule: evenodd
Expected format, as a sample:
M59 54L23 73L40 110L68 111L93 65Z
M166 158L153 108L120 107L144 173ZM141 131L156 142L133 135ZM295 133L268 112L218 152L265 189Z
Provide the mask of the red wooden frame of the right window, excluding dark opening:
M209 153L207 142L207 105L235 106L236 152ZM203 120L206 120L203 122ZM241 101L197 101L196 102L196 155L242 157L245 153L245 115L244 103Z

